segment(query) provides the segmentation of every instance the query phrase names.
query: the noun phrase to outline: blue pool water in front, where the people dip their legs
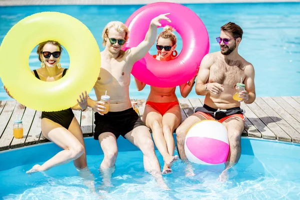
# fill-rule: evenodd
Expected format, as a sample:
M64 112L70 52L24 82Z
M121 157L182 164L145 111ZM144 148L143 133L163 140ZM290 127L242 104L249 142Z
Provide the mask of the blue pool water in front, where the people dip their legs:
M223 164L194 164L194 176L185 176L186 165L178 161L173 173L164 176L171 190L159 189L154 179L143 171L142 153L119 138L113 187L103 187L98 167L103 154L98 141L85 138L87 163L101 190L91 194L72 163L44 173L25 173L33 164L42 163L59 148L53 143L0 152L0 196L3 199L299 199L300 145L241 139L242 155L229 171L227 182L217 181ZM47 152L47 153L44 153ZM292 153L291 153L292 152ZM162 166L162 157L156 151ZM24 156L28 155L28 156ZM1 163L2 163L1 161ZM105 190L106 192L104 192Z

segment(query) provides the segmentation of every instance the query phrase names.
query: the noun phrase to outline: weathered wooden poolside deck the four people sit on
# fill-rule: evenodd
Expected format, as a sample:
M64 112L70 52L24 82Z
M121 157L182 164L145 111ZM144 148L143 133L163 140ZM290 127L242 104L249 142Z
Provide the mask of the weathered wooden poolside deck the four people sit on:
M180 98L182 120L203 104L203 98ZM142 117L145 100L138 100ZM242 136L262 137L300 143L300 96L257 97L251 104L241 104L245 110L245 129ZM83 136L93 135L93 111L73 110L80 123ZM21 116L23 138L13 137L12 125L16 115ZM14 100L0 101L0 151L25 145L47 142L40 130L41 112L27 108Z

